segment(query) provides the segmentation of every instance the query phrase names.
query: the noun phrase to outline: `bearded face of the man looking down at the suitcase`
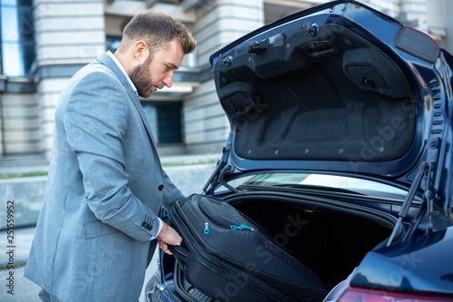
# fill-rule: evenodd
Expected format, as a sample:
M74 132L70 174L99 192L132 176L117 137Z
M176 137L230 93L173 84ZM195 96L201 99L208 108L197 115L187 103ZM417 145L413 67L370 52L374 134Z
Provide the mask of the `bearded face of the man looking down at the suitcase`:
M182 47L177 40L173 40L160 47L154 53L150 63L147 59L132 69L130 80L134 83L139 95L148 98L151 93L164 86L171 87L173 73L178 69L183 57Z

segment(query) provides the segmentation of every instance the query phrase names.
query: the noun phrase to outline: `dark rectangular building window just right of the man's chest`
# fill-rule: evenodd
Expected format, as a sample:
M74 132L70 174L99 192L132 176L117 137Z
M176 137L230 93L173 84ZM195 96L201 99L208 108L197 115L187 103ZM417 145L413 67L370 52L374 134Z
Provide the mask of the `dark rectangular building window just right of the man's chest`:
M141 102L154 139L159 144L181 143L181 102Z

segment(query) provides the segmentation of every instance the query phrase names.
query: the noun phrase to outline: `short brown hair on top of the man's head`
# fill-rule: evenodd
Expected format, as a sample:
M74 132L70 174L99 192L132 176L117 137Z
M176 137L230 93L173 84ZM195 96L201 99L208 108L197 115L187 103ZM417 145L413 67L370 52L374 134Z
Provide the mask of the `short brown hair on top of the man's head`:
M122 53L130 44L143 40L149 45L151 55L174 39L178 40L184 54L195 50L195 40L184 24L170 15L149 9L135 15L124 27L118 51Z

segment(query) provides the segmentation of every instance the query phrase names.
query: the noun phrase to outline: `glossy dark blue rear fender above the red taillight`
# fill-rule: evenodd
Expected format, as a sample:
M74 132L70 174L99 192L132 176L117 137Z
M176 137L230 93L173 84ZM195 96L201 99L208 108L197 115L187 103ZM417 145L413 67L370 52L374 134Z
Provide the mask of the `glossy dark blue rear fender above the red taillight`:
M399 292L452 294L453 227L369 252L351 285ZM453 297L452 297L453 298Z

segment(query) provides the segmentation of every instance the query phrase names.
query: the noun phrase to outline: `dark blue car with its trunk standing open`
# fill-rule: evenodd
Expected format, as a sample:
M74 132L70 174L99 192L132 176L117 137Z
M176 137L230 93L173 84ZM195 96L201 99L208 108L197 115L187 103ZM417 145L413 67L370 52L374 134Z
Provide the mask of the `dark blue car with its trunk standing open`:
M318 301L329 292L335 301L453 301L450 54L370 7L334 1L246 34L210 62L231 132L201 197L169 213L195 239L183 236L176 258L159 253L149 301ZM236 247L222 237L228 228L207 222L203 234L207 200L220 219L227 208L251 221L230 225L249 241ZM188 226L195 216L175 221L188 206L202 210L197 228ZM288 286L293 265L278 268L284 284L269 281L282 279L273 273L251 282L266 268L236 264L254 262L253 231L303 263L317 284L300 284L317 297ZM243 256L185 263L232 246Z

